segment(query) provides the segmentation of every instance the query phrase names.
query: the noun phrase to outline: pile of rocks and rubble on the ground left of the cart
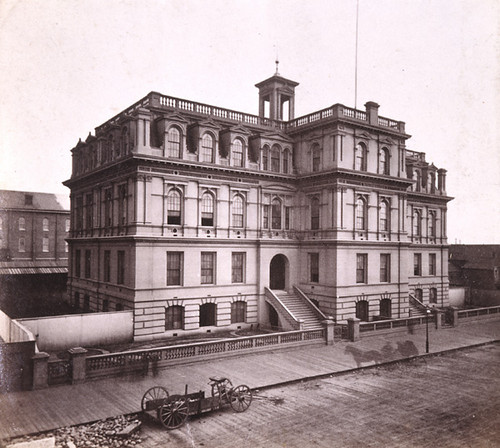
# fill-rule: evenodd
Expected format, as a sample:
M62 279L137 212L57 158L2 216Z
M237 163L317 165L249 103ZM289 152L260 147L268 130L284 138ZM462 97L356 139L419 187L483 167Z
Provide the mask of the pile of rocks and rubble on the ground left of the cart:
M140 446L141 426L137 415L122 415L79 426L67 426L37 436L25 436L11 440L16 443L54 437L55 448L118 448Z

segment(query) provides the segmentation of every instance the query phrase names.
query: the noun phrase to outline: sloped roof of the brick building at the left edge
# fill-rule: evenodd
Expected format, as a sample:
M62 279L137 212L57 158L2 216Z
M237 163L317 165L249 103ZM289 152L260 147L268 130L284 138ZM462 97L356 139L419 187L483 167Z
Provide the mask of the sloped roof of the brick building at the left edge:
M0 209L69 211L69 195L0 190Z

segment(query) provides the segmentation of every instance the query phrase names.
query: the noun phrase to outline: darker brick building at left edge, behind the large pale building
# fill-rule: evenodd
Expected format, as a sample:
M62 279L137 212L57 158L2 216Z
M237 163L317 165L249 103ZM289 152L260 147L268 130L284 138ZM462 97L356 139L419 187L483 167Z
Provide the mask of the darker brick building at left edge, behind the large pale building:
M68 197L0 190L0 308L12 318L65 299L69 229Z

